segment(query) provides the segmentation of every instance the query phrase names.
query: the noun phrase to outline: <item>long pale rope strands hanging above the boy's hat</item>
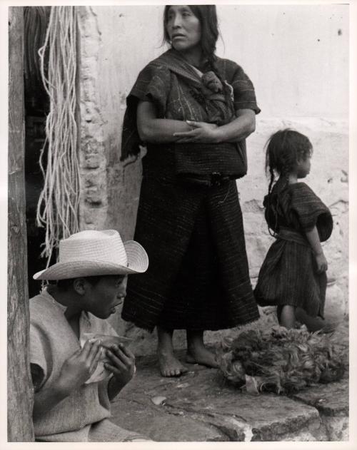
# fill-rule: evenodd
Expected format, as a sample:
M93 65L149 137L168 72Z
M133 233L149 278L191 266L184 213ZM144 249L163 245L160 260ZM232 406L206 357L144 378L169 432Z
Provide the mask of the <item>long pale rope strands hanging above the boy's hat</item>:
M41 78L49 95L50 109L46 118L46 143L39 161L44 188L37 205L36 224L46 227L41 257L47 257L47 266L59 240L79 231L76 27L74 6L52 7L44 46L39 49Z

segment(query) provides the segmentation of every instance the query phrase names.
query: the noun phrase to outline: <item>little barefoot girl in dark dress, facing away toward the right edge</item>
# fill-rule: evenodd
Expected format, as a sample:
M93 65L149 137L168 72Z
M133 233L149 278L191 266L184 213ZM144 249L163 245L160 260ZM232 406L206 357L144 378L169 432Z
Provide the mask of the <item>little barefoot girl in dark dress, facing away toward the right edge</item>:
M310 172L312 151L305 135L289 129L273 134L266 148L270 183L263 205L276 241L254 293L258 305L277 306L278 321L286 328L294 327L297 308L323 318L327 261L321 242L330 237L333 221L326 205L298 181Z

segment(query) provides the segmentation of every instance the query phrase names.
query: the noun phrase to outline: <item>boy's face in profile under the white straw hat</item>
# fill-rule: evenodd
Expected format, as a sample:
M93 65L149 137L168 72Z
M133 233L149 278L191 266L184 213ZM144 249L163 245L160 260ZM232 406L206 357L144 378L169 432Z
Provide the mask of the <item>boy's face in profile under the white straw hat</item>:
M87 282L86 310L100 319L114 314L126 296L126 279L125 275L107 275L96 285Z

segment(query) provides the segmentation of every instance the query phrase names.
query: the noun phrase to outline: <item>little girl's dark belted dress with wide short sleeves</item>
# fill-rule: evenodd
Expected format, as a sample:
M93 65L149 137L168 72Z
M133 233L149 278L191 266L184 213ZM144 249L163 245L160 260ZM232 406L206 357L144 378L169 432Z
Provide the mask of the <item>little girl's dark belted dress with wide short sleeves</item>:
M292 305L312 317L323 317L326 272L316 272L305 232L316 225L321 242L327 240L333 228L330 211L305 183L281 188L279 181L264 198L264 206L277 238L259 272L254 290L258 305Z

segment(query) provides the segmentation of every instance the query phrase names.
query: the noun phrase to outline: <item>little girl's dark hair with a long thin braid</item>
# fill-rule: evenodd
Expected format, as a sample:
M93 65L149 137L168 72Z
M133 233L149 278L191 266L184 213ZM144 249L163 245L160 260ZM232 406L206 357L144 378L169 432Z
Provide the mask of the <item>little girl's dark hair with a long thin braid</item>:
M311 156L313 147L310 140L298 131L286 128L277 131L268 139L266 143L266 173L270 173L270 181L267 195L266 210L268 214L273 213L275 225L274 233L271 233L271 227L268 225L269 233L275 236L278 228L278 198L279 193L288 184L288 175L296 168L299 159L306 159ZM271 199L271 190L273 183L278 175L278 183L276 184L276 196Z

